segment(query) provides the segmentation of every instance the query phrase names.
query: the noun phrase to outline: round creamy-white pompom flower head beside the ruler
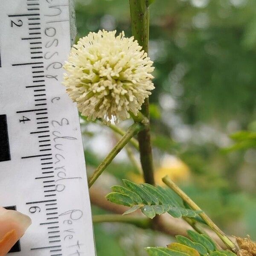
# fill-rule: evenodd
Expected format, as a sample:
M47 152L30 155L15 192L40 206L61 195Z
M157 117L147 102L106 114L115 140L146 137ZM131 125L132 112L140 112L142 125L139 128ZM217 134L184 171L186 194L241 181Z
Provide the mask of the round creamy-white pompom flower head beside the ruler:
M154 89L153 61L124 32L90 32L71 49L63 84L83 116L125 120L135 116Z

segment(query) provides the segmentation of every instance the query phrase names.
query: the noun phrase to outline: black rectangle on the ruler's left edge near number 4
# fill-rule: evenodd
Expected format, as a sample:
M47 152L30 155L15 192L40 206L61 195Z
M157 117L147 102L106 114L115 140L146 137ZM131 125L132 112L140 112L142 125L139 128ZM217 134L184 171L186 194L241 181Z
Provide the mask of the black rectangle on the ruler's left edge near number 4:
M0 115L0 162L11 160L7 119L6 115Z

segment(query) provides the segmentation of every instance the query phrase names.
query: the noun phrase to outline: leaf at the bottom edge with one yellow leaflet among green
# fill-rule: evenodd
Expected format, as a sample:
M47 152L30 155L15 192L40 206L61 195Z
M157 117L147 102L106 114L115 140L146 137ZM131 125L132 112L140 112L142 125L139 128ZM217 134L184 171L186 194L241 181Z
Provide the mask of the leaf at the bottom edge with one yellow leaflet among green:
M145 250L150 256L236 256L230 250L217 250L212 239L192 230L187 230L189 237L176 236L178 243L172 243L166 247L147 247Z

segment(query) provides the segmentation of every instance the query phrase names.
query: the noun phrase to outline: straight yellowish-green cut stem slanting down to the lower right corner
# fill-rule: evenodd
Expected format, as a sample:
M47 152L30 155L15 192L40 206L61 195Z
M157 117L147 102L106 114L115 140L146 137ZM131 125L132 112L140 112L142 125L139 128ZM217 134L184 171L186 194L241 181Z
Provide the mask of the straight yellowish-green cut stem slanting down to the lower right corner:
M185 201L193 210L202 211L202 209L195 204L195 202L186 195L168 176L163 177L163 182L169 186L177 195L179 195L183 201ZM198 213L199 216L206 222L206 224L218 235L218 237L226 244L230 250L234 253L237 252L238 248L235 244L225 235L225 233L204 213Z

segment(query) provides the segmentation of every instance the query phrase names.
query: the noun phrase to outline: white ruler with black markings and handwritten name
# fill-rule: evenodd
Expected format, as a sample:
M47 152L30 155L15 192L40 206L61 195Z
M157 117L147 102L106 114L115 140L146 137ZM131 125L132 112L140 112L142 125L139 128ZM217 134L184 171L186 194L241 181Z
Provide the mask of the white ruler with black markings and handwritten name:
M68 0L0 0L0 205L32 218L9 255L94 256Z

